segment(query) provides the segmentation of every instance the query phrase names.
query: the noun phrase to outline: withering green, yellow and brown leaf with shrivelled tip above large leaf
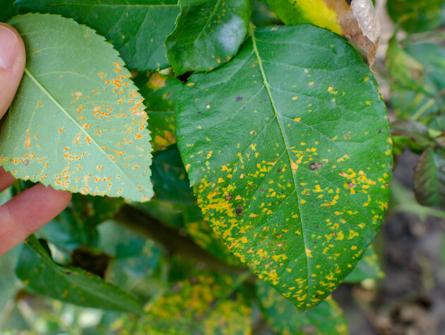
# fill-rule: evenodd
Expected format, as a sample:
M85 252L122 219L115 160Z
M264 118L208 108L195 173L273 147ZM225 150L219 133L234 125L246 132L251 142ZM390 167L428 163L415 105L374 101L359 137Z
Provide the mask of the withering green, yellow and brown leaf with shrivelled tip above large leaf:
M278 18L287 25L312 23L355 40L368 52L374 64L381 28L371 0L268 0Z

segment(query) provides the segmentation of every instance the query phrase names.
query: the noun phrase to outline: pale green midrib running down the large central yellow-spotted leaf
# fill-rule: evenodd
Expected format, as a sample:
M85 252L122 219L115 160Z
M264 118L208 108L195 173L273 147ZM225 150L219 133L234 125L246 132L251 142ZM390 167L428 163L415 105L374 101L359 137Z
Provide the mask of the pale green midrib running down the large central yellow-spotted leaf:
M255 33L254 33L253 25L249 26L249 30L250 30L250 35L251 35L252 42L253 42L254 52L256 54L256 59L258 59L259 69L261 71L261 77L263 78L263 83L264 83L264 86L266 87L268 96L271 99L273 113L275 114L275 119L277 120L278 126L280 127L280 134L281 134L281 136L283 138L283 142L285 143L285 151L287 153L287 158L289 158L289 166L291 166L292 165L292 158L290 157L289 148L287 148L287 141L285 139L285 134L284 134L284 131L283 131L283 126L282 126L282 124L280 122L280 113L278 113L277 107L275 106L275 101L273 100L273 96L272 96L272 93L271 93L271 88L270 88L268 80L267 80L266 71L264 71L264 68L263 68L263 61L262 61L262 59L261 59L261 57L259 55L258 48L256 47L256 39L255 39ZM292 172L292 169L291 169L291 172ZM294 174L294 172L292 172L292 181L294 183L295 192L297 194L297 201L298 201L299 195L298 195L298 189L297 189L297 182L295 182L295 174ZM302 218L302 211L301 211L301 208L299 208L299 204L298 203L297 203L297 207L298 207L299 218L300 218L300 221L302 223L302 231L303 231L302 237L303 237L303 245L304 245L303 256L304 256L304 255L306 255L306 250L307 250L306 236L305 236L305 229L304 229L304 223L303 223L303 218ZM310 281L309 281L309 257L307 257L307 255L306 255L305 258L306 258L306 267L307 267L307 292L309 292L309 283L310 283Z

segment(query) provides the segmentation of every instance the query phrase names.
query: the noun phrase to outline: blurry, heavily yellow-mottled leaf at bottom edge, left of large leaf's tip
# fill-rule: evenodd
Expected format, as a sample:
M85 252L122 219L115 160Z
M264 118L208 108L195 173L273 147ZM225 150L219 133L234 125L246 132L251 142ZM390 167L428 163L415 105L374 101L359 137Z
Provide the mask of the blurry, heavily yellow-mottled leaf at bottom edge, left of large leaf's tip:
M146 306L138 334L250 334L251 307L242 293L227 296L232 283L206 273L174 283Z

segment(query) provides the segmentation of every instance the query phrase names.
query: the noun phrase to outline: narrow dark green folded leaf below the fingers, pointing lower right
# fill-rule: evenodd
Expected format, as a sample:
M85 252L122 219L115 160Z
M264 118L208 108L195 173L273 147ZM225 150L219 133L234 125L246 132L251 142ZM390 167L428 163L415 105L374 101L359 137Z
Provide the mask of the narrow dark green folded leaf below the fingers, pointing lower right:
M140 303L128 293L78 268L56 264L35 235L20 254L16 274L39 294L85 307L141 313Z

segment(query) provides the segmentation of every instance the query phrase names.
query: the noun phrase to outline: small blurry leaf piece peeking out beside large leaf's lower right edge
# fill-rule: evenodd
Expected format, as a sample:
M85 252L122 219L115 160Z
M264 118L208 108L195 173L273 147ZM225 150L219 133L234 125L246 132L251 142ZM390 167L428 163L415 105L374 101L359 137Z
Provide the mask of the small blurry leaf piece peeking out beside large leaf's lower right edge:
M385 274L381 271L379 257L374 247L369 245L363 258L360 259L355 269L345 278L345 283L360 283L364 279L385 278Z

